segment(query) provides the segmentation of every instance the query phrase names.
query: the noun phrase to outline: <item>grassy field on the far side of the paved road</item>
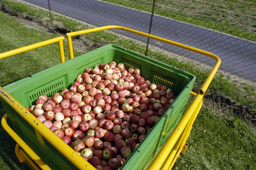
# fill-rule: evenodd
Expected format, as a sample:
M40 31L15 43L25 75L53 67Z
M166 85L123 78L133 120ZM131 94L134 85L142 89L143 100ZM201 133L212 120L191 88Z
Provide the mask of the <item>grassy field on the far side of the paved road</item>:
M153 3L147 0L102 1L150 13ZM256 42L255 10L255 1L159 0L156 1L154 13Z

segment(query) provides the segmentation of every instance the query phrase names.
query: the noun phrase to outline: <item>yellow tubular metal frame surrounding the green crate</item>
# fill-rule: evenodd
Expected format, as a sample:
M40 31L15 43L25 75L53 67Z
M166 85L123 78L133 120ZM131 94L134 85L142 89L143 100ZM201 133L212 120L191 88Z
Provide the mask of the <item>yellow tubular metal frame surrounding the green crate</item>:
M92 33L92 32L101 31L104 29L122 29L125 31L129 31L131 33L135 33L137 35L146 36L148 38L158 40L160 42L169 43L169 44L175 45L177 47L181 47L183 49L192 50L194 52L204 54L205 56L209 56L210 58L216 60L216 64L213 66L211 72L209 73L208 77L205 79L205 81L202 84L198 93L194 93L193 91L191 91L191 95L193 95L195 98L189 105L186 112L184 112L182 118L180 119L178 125L173 130L172 134L168 137L168 139L164 143L163 147L161 148L159 153L156 155L156 157L154 158L154 160L148 167L148 169L172 169L176 159L179 157L180 152L182 151L184 144L186 144L186 140L189 137L192 125L196 119L196 116L198 115L198 112L202 108L202 103L203 103L202 100L204 98L205 91L211 84L211 81L212 81L214 75L216 74L218 68L220 67L221 60L220 60L220 58L218 58L218 56L216 56L215 54L212 54L211 52L196 49L194 47L190 47L190 46L184 45L182 43L173 42L171 40L167 40L167 39L161 38L159 36L149 35L147 33L143 33L141 31L136 31L134 29L129 29L127 27L122 27L122 26L96 27L93 29L86 29L83 31L67 33L66 36L68 39L68 49L69 49L70 59L74 58L73 47L72 47L72 36L82 35L82 34L86 34L86 33ZM64 58L64 52L63 52L63 39L64 39L63 36L61 36L58 38L53 38L51 40L47 40L45 42L35 43L33 45L28 45L28 46L22 47L20 49L15 49L15 50L11 50L8 52L4 52L4 53L0 54L0 59L6 58L8 56L13 56L15 54L19 54L20 52L25 52L27 50L36 49L38 47L42 47L42 46L48 45L50 43L59 42L61 62L64 62L65 58ZM1 86L0 86L0 97L3 98L11 107L13 107L13 109L16 112L18 112L20 114L20 116L22 116L22 118L24 118L26 121L28 121L28 123L33 128L35 128L36 131L38 131L36 133L36 135L38 135L38 139L42 139L42 136L44 136L45 139L47 139L47 141L49 141L57 150L59 150L65 157L67 157L68 160L70 160L70 162L73 162L74 165L77 166L79 169L84 169L85 167L87 167L88 169L95 169L91 164L89 164L86 160L84 160L82 157L80 157L76 153L76 151L67 147L67 144L65 144L59 137L57 137L55 134L53 134L51 132L51 130L46 128L40 121L38 121L35 118L35 116L33 116L33 114L28 112L22 105L19 104L19 102L17 102L15 100L15 98L13 98L6 91L4 91L4 89L1 88ZM35 159L40 161L40 158L38 158L37 155L34 155L35 152L33 150L31 150L28 147L28 145L26 146L25 145L26 143L24 144L24 141L22 141L22 139L20 139L20 137L17 134L15 135L15 132L13 130L8 129L8 127L7 127L8 124L6 123L6 119L7 119L7 116L4 116L2 119L2 125L5 130L7 129L6 132L8 132L8 134L10 134L13 137L13 139L20 145L20 147L22 147L23 150L26 151L26 153L28 153L29 157L31 157L34 161L35 161ZM38 123L38 125L36 125L36 123ZM44 133L42 133L42 132L44 132ZM66 147L65 151L63 151L63 147ZM17 148L18 148L18 146L17 146ZM61 150L61 148L62 148L62 150ZM18 150L18 149L15 149L15 151L16 150ZM26 153L24 153L24 154L26 154ZM20 158L19 158L19 160L20 160ZM36 164L41 165L43 163L36 162ZM47 167L45 169L47 169Z

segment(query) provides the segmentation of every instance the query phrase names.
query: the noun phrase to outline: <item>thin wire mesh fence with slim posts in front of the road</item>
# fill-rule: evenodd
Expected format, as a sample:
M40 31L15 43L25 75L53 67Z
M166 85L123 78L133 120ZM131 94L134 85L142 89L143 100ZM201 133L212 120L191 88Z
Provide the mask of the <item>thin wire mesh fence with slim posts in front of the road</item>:
M220 56L221 70L256 81L255 1L24 1L49 10L49 16L52 11L92 26L119 25L145 33L150 31L152 35L207 50ZM115 33L143 43L148 41L143 36L124 31L115 30ZM179 47L154 40L149 43L207 65L214 63L201 54Z

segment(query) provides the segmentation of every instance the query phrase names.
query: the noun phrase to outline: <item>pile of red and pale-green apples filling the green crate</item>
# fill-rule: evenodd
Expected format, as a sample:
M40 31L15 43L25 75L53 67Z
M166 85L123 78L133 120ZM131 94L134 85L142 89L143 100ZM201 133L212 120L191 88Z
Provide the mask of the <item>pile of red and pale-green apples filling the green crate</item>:
M69 89L27 108L97 169L118 169L172 104L172 89L124 63L86 68Z

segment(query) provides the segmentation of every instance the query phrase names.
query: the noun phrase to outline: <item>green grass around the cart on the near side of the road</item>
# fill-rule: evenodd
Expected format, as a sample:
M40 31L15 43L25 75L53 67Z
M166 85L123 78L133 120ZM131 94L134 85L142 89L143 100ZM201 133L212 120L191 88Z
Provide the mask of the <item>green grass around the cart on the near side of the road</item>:
M15 8L22 10L22 6L15 4ZM29 8L29 12L33 13L33 8ZM36 10L35 10L36 13ZM43 12L38 11L37 13ZM40 15L40 16L41 16ZM47 15L46 15L47 16ZM6 50L16 49L35 42L41 42L59 36L57 34L50 35L42 31L35 29L29 29L19 22L15 21L12 17L9 17L3 12L0 12L1 22L0 31L3 34L0 35L0 52ZM58 16L54 16L58 18ZM38 17L46 19L46 17ZM60 21L61 20L61 21ZM65 24L67 19L61 19L59 22ZM69 22L68 22L69 23ZM69 25L70 26L70 25ZM81 24L77 23L72 25L72 30L80 29ZM68 27L70 29L70 27ZM86 40L91 43L98 44L99 46L108 44L110 42L122 45L131 50L138 52L145 52L145 48L141 47L139 43L134 43L132 40L124 40L116 35L106 32L94 33L92 35L84 36ZM44 48L44 50L43 50ZM65 49L67 49L67 43L65 43ZM82 54L83 52L75 51L75 56ZM68 52L65 50L65 54ZM196 80L195 89L199 87L207 76L207 72L200 72L195 66L188 63L178 61L175 58L169 58L159 52L150 50L148 55L152 58L163 61L164 63L172 64L194 73L198 79ZM31 75L32 73L39 72L45 68L60 63L58 54L58 45L50 45L49 47L42 47L41 49L26 52L25 54L19 54L17 56L9 57L0 60L2 70L0 70L1 86L10 84L10 82L17 81L22 77ZM50 59L51 58L51 59ZM27 62L24 62L27 61ZM29 62L28 62L29 61ZM21 63L21 64L20 64ZM4 66L4 68L2 68ZM3 78L4 77L4 78ZM232 87L232 88L230 88ZM211 84L209 91L220 91L227 94L229 97L234 98L237 102L241 102L248 107L255 108L255 88L245 86L246 93L250 94L251 98L244 98L244 93L241 88L234 83L229 82L225 77L216 77ZM254 101L254 102L253 102ZM4 114L0 105L1 116ZM191 135L188 139L190 146L182 158L177 160L175 168L177 169L255 169L256 160L256 136L252 130L244 123L243 120L235 118L234 116L221 114L204 105L202 111L196 118L195 125L191 131ZM2 135L1 142L1 155L0 155L0 167L4 169L26 169L24 164L19 164L17 158L13 153L14 142L3 128L0 128ZM10 142L11 141L11 142ZM9 144L10 143L10 144ZM8 147L5 147L8 144Z

